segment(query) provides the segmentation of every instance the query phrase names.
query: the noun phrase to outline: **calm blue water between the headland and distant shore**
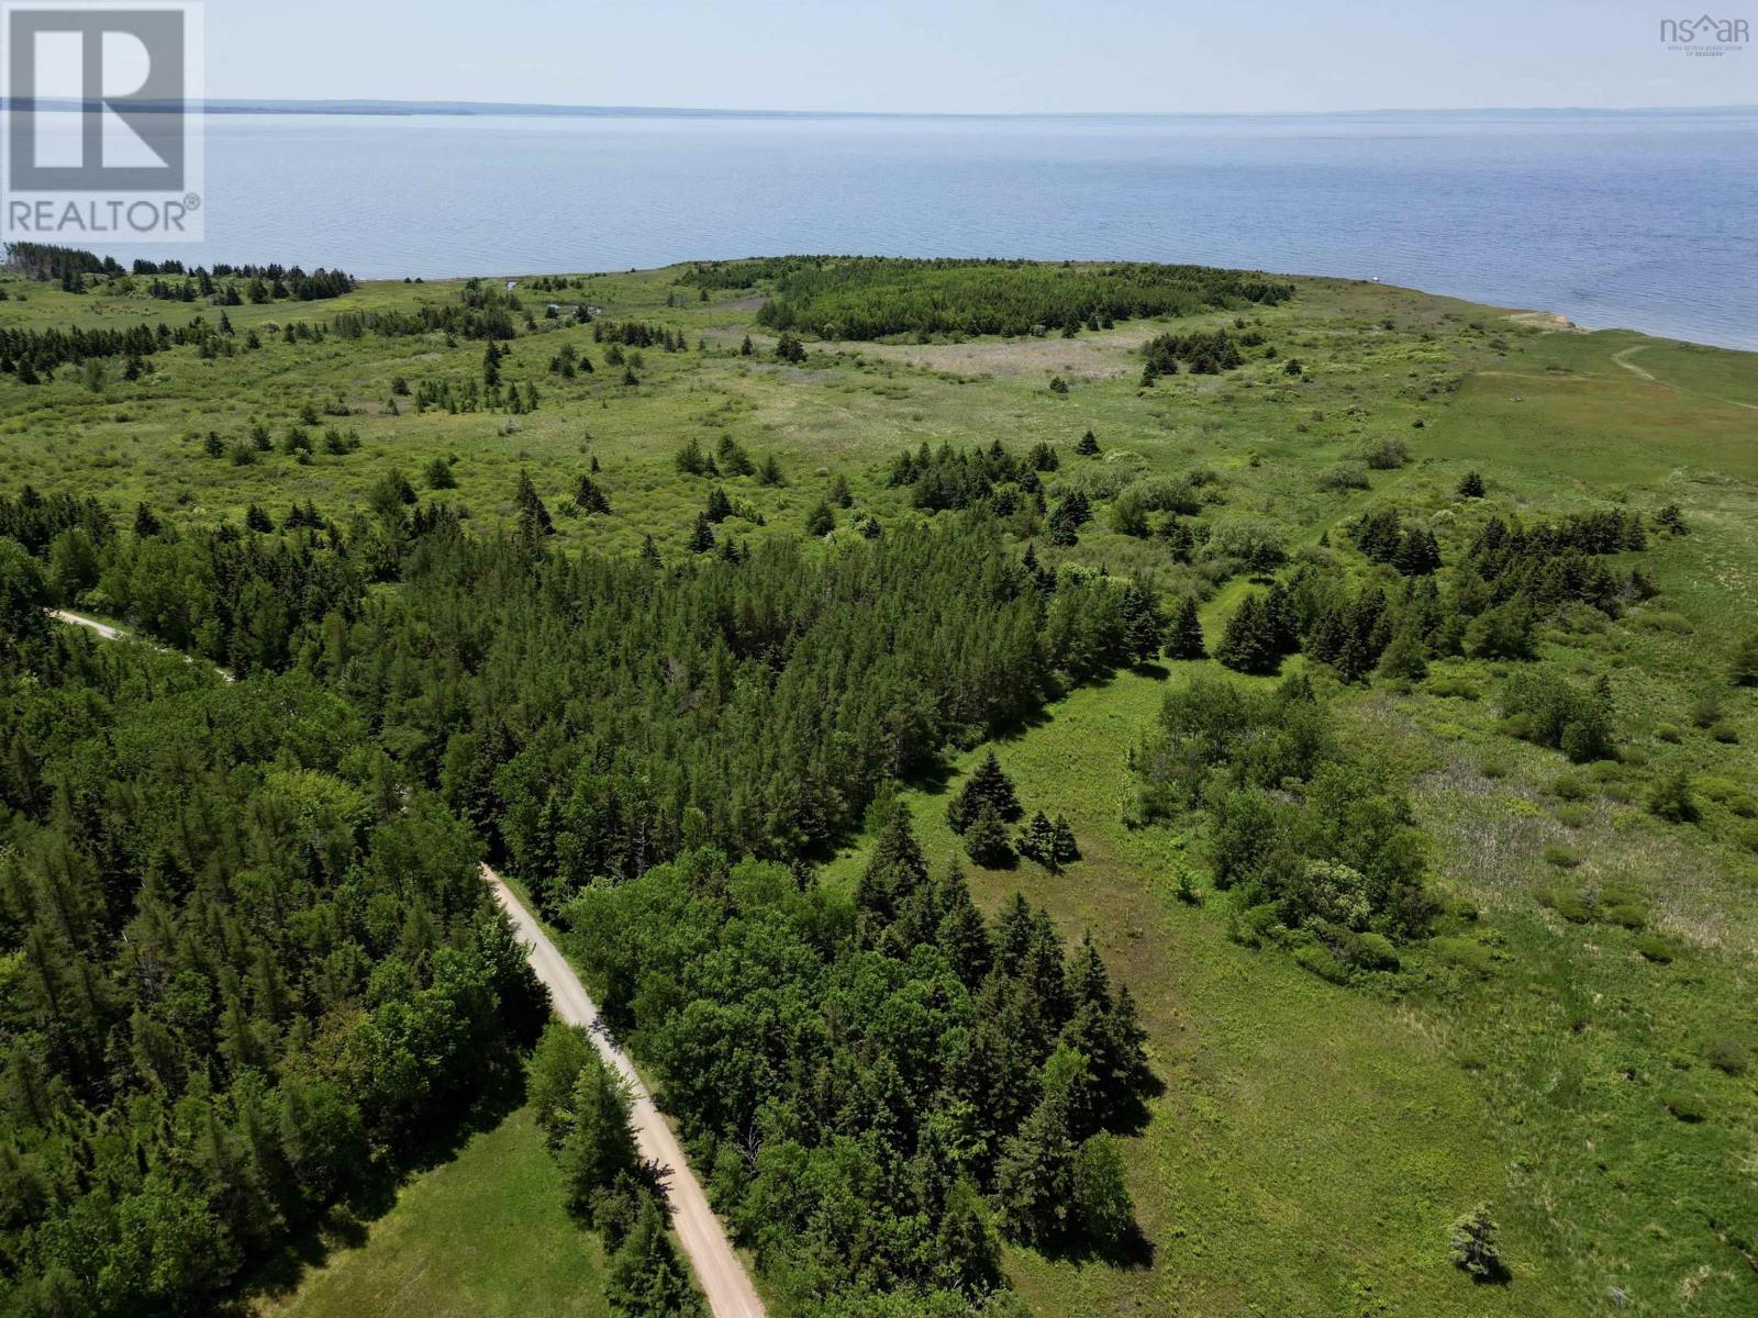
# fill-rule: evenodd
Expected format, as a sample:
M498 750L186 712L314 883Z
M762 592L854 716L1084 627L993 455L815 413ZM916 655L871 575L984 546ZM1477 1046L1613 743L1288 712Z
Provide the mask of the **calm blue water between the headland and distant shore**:
M534 274L796 251L1341 274L1758 348L1758 111L214 116L193 260Z

